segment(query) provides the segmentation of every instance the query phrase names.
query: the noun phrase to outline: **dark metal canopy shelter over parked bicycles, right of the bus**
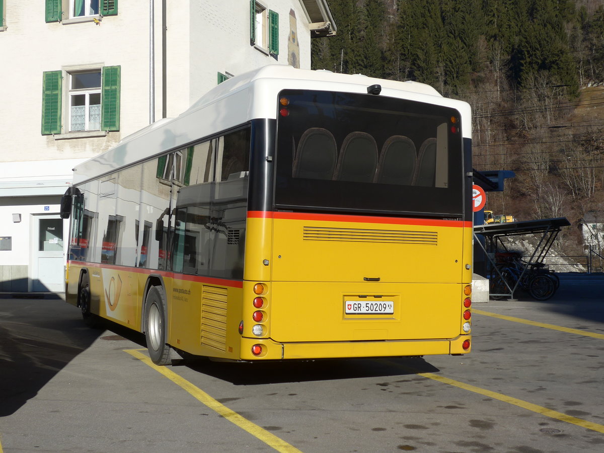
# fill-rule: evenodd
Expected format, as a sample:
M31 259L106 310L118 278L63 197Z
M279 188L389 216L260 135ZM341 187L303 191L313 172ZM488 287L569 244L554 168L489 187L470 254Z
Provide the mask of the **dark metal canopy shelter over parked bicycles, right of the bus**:
M510 222L510 223L490 223L488 225L476 225L474 226L474 244L478 244L483 249L484 255L486 255L490 269L487 275L498 274L503 278L501 272L495 263L495 254L501 251L508 252L506 245L503 243L503 237L510 236L523 236L526 234L541 235L539 243L535 247L533 254L528 259L525 271L530 266L543 265L545 256L550 251L551 246L556 240L558 233L562 230L562 226L570 226L570 222L566 217L557 217L556 219L541 219L541 220L527 220L525 222ZM486 247L483 245L481 240L477 237L477 234L484 236L486 239ZM521 275L522 277L522 275ZM500 296L509 296L513 298L514 292L518 288L520 279L516 281L509 294L497 294Z

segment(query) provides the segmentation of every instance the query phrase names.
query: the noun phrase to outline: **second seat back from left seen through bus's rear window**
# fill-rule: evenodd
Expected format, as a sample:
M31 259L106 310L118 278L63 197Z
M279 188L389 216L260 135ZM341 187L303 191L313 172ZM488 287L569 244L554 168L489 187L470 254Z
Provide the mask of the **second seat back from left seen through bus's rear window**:
M334 179L373 182L377 166L377 144L365 132L350 132L344 138Z

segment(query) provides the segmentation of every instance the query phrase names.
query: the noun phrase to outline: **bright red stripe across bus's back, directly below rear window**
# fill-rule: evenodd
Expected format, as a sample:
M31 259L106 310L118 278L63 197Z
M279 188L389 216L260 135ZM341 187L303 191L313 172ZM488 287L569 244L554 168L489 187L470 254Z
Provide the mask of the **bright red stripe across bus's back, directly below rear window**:
M409 217L351 216L347 214L280 213L272 211L248 211L254 219L323 220L324 222L385 223L393 225L455 226L472 228L472 222L464 220L412 219Z

